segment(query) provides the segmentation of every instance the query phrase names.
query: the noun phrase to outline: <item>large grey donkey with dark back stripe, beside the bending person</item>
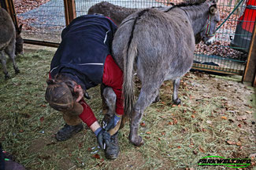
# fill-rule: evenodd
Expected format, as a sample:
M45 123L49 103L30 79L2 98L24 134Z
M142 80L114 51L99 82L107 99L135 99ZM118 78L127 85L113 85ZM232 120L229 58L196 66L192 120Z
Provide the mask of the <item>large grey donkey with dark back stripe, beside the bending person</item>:
M180 78L190 70L195 36L213 42L220 21L214 1L174 5L164 11L143 9L123 20L113 39L113 57L124 71L124 118L130 116L130 141L143 144L138 136L143 111L158 96L165 80L173 80L173 102L180 103ZM135 67L135 68L134 68ZM134 104L133 73L142 88Z

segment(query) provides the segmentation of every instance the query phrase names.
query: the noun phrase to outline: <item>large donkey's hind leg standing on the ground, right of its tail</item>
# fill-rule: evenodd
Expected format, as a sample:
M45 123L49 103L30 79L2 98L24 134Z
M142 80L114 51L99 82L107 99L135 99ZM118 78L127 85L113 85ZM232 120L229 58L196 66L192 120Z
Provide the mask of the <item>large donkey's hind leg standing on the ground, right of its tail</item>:
M129 139L131 143L135 146L141 146L143 144L143 139L141 136L138 136L138 128L139 121L143 118L144 110L154 101L156 96L158 95L158 89L161 85L161 82L158 83L147 83L147 85L143 85L140 93L139 99L135 103L132 112L132 119L130 122L130 135Z

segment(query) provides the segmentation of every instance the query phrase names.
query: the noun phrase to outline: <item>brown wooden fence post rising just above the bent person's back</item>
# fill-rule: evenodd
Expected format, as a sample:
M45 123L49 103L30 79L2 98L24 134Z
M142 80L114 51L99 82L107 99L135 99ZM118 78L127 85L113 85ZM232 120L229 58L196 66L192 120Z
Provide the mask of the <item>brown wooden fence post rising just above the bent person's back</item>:
M76 18L76 3L75 0L64 0L65 21L68 26L71 21Z

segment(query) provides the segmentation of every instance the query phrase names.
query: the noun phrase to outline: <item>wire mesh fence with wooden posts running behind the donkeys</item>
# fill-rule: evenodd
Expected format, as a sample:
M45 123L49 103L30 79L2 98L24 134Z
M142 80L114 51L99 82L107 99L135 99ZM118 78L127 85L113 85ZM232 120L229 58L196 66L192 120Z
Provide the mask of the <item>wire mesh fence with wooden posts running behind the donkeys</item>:
M188 0L184 0L188 1ZM17 24L23 24L24 42L57 47L61 31L73 18L87 14L91 5L102 0L0 0L7 7ZM147 8L183 2L183 0L109 0L114 5L128 8ZM219 0L221 22L213 45L196 45L193 68L223 74L245 71L255 17L255 0ZM14 10L15 9L15 10ZM251 9L249 12L248 9ZM16 13L15 13L16 12ZM247 14L250 14L249 16ZM247 17L247 18L245 18ZM244 27L245 25L245 27ZM249 27L249 29L247 29ZM250 54L250 52L249 52Z

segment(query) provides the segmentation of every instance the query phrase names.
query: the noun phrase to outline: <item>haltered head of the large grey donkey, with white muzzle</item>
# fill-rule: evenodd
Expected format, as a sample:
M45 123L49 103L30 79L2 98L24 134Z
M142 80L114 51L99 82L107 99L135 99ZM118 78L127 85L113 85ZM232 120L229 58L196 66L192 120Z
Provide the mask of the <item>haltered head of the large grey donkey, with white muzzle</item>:
M212 42L214 42L217 23L221 21L220 13L217 10L217 4L215 0L210 1L209 4L209 13L206 13L206 17L208 17L206 24L204 27L202 27L202 30L199 33L202 41L206 45L210 45Z

